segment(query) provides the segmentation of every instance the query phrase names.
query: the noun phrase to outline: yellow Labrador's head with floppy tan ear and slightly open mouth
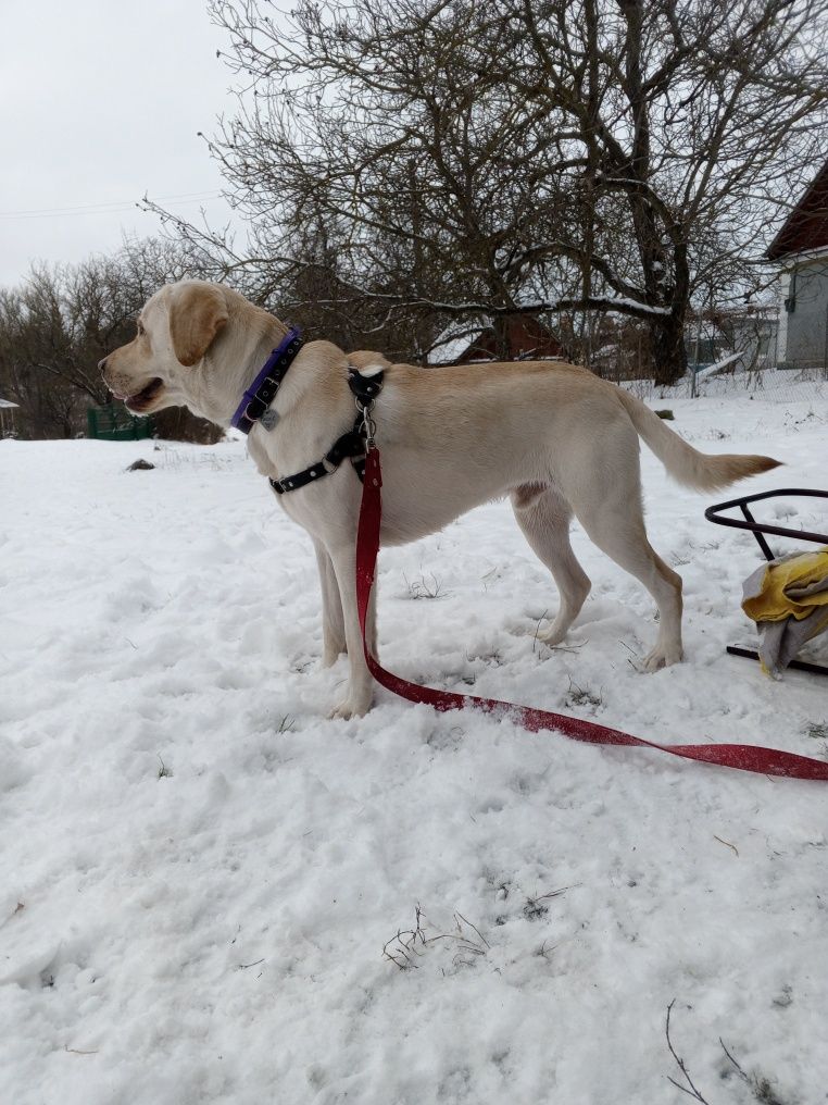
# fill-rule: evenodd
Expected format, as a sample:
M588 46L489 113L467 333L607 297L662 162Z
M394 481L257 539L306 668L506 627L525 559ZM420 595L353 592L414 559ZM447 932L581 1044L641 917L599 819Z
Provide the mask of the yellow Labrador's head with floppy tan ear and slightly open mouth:
M156 292L138 316L138 333L98 365L116 399L135 414L188 403L188 376L230 317L220 284L181 281Z

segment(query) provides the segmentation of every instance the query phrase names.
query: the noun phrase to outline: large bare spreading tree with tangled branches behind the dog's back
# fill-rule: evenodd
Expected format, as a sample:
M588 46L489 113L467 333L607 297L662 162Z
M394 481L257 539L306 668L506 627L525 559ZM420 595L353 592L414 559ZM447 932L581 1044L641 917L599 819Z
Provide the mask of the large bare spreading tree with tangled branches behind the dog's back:
M368 334L418 319L427 344L446 318L549 309L588 330L615 312L647 325L672 380L691 299L762 285L767 231L822 141L828 0L212 13L241 88L209 146L250 241L179 230L261 299L351 319L373 304Z

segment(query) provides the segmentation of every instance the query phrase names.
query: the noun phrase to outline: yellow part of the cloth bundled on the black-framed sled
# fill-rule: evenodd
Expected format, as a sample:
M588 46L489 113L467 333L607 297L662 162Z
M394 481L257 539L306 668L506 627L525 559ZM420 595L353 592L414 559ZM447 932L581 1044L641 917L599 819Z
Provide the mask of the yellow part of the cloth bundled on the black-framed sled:
M783 621L795 618L802 621L818 614L814 631L816 636L828 627L828 547L816 552L799 552L765 568L760 589L745 598L742 609L755 622ZM816 589L815 585L824 587ZM804 593L809 591L810 593Z

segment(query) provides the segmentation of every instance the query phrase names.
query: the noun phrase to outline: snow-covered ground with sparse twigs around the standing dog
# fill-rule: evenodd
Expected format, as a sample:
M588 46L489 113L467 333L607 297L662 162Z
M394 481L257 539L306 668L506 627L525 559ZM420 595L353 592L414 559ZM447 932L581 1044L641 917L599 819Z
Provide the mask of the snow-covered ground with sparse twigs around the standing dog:
M786 462L733 494L826 486L828 393L792 387L669 406ZM592 596L539 644L554 587L505 504L382 554L383 662L825 757L828 681L724 654L753 538L643 463L686 663L639 672L652 604L578 532ZM710 1105L828 1099L828 787L384 691L326 720L311 547L241 442L1 442L0 487L0 1102L668 1105L673 1001Z

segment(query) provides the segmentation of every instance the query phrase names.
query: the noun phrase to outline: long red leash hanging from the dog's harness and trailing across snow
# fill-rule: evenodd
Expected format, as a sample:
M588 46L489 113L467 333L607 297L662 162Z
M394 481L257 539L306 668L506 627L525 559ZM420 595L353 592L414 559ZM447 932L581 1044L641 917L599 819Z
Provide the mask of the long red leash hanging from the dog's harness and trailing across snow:
M431 687L422 687L417 683L410 683L407 680L385 671L371 655L365 641L365 617L376 569L376 555L380 550L381 487L380 453L375 448L370 448L365 459L365 477L357 535L357 602L369 671L376 682L389 691L393 691L394 694L407 698L410 702L427 703L439 711L474 706L485 713L508 712L511 719L531 733L537 733L539 729L555 729L573 740L582 740L592 745L657 748L659 751L670 753L671 756L703 760L705 764L719 764L722 767L734 767L742 771L781 775L794 779L820 779L828 782L828 762L811 759L808 756L797 756L796 753L784 753L776 748L757 748L754 745L657 745L651 740L641 740L640 737L622 733L619 729L608 729L603 725L595 725L593 722L567 717L565 714L552 714L544 709L533 709L530 706L516 706L512 703L498 702L496 698L479 698L475 695L455 694L452 691L434 691Z

